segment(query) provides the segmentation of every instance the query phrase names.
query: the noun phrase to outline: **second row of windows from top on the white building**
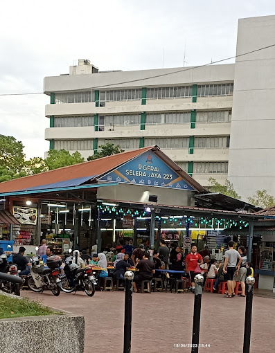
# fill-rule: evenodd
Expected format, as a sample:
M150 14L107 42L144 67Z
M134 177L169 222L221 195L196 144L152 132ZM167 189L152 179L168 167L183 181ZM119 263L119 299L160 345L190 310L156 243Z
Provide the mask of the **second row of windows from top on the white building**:
M145 124L188 124L191 112L146 114ZM197 123L228 123L231 121L231 111L197 111ZM140 114L99 116L99 131L105 126L140 125ZM55 117L55 127L85 127L94 126L94 116L60 116Z

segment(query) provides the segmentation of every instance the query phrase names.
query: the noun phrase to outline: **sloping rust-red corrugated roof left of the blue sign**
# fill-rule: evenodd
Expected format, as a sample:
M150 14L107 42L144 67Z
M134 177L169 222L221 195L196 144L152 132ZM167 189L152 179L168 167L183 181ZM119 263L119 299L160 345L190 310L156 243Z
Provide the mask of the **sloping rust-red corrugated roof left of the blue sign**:
M50 170L49 172L4 181L3 183L0 183L0 192L26 190L28 188L35 190L35 188L42 185L50 185L51 183L56 184L61 181L70 181L85 177L88 177L89 180L91 175L104 174L108 170L112 170L112 168L116 168L118 165L121 165L122 163L133 159L135 156L139 156L139 154L151 149L152 146L144 147L139 150L113 154L112 156L95 159L94 161L78 163L75 165L69 165L68 167Z

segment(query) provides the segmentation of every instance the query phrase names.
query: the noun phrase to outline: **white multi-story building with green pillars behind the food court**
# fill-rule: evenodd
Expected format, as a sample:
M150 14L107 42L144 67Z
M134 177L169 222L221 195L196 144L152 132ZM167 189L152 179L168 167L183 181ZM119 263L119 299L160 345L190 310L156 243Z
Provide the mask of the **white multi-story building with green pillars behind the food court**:
M240 19L237 54L275 44L274 33L275 16ZM229 177L243 197L275 194L274 88L274 47L236 64L174 69L98 71L79 60L44 79L46 140L85 158L106 143L158 145L204 186Z

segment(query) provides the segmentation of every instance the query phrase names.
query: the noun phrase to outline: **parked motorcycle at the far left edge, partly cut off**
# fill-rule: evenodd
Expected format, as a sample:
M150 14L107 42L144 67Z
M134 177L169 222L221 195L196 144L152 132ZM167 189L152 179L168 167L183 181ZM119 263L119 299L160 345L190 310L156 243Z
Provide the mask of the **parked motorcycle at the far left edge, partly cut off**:
M0 272L3 273L0 280L0 289L6 293L15 293L16 296L20 296L20 284L22 282L19 278L20 271L18 271L16 264L8 263L5 254L0 256ZM16 278L12 278L10 275Z

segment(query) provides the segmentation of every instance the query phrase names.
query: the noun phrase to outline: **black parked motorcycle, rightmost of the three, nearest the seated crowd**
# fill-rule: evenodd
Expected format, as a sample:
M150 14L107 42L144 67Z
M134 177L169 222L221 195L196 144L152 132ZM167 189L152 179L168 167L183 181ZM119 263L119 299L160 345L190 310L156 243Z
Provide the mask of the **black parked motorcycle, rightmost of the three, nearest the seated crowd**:
M58 286L65 293L73 291L85 291L87 296L94 296L96 277L91 267L79 269L77 264L67 263L64 266L64 275L57 280Z

